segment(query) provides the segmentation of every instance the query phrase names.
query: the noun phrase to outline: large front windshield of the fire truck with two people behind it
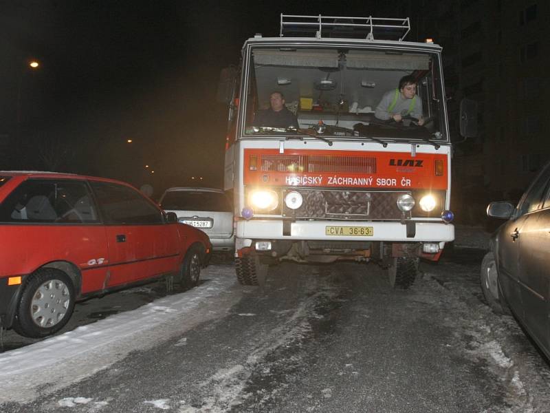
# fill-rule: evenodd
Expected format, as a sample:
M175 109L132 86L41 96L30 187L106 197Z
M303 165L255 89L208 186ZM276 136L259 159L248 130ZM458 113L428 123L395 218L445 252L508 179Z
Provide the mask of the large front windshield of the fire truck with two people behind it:
M325 125L336 139L447 140L434 53L252 47L248 74L247 135ZM399 89L404 78L416 93Z

